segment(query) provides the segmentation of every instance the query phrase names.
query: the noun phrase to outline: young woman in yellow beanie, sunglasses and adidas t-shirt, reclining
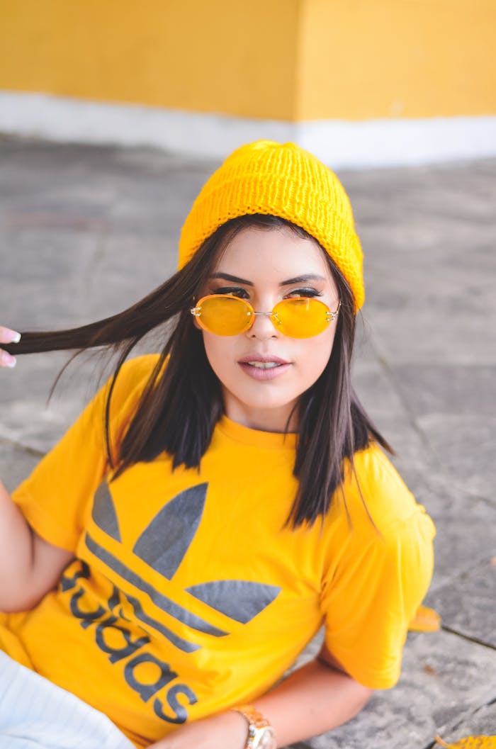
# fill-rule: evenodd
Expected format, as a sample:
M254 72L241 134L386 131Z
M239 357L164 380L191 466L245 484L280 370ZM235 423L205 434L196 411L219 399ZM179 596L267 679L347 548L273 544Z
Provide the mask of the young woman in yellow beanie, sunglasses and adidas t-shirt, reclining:
M79 709L155 749L330 730L396 683L432 575L432 521L350 382L362 252L336 175L293 144L239 148L196 198L179 267L113 318L3 332L10 354L122 346L0 493L1 673L57 690L51 747ZM166 321L160 354L122 366ZM280 681L321 625L318 657Z

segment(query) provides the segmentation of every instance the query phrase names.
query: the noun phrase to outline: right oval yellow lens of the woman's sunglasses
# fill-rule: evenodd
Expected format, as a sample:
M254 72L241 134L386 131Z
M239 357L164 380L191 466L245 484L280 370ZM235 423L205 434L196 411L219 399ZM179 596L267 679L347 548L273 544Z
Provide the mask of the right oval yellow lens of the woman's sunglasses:
M312 338L327 328L329 308L318 299L285 299L272 311L273 324L285 336Z

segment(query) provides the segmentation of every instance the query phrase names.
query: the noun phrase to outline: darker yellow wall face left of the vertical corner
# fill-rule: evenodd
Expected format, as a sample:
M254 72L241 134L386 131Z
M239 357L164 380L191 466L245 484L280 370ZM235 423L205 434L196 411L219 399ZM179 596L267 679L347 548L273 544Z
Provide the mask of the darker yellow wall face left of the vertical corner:
M291 120L300 0L0 0L0 88Z

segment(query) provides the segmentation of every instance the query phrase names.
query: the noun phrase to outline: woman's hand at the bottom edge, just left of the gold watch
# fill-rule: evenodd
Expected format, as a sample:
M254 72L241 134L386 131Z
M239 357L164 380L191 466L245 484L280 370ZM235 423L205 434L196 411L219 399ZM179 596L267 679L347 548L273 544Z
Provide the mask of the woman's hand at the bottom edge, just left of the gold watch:
M148 749L244 749L247 736L243 715L229 710L181 726Z

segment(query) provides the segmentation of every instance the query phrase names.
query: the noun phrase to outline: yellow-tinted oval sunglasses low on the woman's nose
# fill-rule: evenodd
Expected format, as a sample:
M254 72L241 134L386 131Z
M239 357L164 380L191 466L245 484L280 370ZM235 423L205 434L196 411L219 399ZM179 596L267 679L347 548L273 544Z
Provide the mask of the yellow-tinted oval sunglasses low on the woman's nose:
M323 333L327 325L336 320L340 306L341 302L336 312L331 312L318 299L294 297L278 302L272 312L255 312L251 304L240 297L209 294L202 297L190 312L204 330L216 336L238 336L252 327L257 315L265 315L284 336L312 338Z

